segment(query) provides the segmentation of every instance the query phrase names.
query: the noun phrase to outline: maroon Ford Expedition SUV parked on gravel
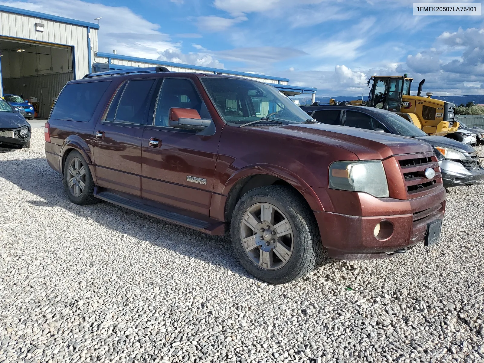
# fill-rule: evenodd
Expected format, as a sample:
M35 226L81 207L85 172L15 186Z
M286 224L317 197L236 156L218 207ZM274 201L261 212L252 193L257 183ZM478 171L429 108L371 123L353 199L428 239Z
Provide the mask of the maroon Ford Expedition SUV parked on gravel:
M429 144L320 124L241 77L156 67L71 81L45 153L74 203L230 229L242 265L271 283L311 271L323 247L366 259L430 245L445 210Z

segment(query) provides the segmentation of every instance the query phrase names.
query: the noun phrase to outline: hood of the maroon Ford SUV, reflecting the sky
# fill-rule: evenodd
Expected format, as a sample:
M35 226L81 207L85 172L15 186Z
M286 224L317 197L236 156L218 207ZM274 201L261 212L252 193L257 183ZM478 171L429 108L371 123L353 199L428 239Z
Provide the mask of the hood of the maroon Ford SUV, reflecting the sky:
M316 141L351 151L361 160L381 160L392 155L434 151L410 137L326 124L290 124L271 127L274 133Z

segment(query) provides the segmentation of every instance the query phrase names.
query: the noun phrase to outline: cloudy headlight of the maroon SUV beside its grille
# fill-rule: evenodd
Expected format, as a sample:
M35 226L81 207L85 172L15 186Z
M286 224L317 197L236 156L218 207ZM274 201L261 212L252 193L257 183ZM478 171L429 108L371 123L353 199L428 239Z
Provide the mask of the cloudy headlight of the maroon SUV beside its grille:
M337 161L330 165L330 188L389 197L387 176L379 160Z

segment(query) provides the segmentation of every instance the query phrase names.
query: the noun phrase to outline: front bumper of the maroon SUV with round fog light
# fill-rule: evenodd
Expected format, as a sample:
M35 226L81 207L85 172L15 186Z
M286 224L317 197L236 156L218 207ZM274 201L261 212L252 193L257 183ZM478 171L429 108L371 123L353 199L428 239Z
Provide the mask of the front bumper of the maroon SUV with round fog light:
M408 200L315 189L319 189L315 192L320 200L329 206L315 216L323 245L328 256L333 258L384 258L398 249L413 247L424 240L427 224L443 219L445 213L443 187L430 195ZM359 215L345 213L349 211ZM378 239L374 229L382 221L392 225L392 233L385 239Z

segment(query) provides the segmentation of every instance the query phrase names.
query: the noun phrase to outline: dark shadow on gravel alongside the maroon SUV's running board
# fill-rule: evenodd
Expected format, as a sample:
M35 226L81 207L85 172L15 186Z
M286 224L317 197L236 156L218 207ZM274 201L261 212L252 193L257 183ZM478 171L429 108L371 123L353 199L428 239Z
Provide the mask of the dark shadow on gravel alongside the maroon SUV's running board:
M0 177L44 199L27 201L35 207L62 208L80 218L91 219L99 225L120 232L120 239L126 234L137 238L140 243L148 241L155 246L254 278L234 257L231 241L227 237L210 236L106 202L90 206L71 203L65 194L61 175L52 170L43 158L1 160Z

